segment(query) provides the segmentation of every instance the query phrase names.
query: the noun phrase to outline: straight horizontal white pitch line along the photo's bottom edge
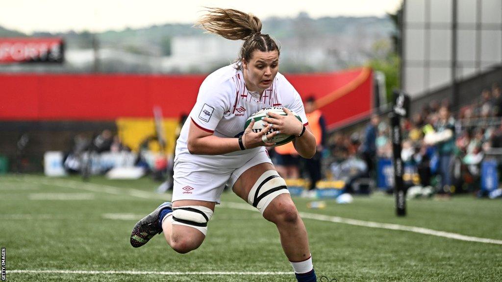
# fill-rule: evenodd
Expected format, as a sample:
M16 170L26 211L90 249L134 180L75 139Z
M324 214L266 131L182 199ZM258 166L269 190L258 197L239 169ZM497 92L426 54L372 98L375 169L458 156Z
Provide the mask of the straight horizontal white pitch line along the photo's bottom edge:
M171 272L171 271L134 271L134 270L30 270L15 269L7 270L9 273L55 273L55 274L132 274L132 275L292 275L294 272L285 271L193 271L193 272Z

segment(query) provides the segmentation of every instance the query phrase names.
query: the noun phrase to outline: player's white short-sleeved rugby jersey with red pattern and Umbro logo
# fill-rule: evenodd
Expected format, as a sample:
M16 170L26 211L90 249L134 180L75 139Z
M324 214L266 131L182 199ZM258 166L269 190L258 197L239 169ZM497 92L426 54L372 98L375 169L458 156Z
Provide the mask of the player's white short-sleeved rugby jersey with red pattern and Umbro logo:
M217 156L192 155L187 149L190 122L193 121L199 128L215 136L235 138L244 132L245 121L250 115L272 106L287 107L296 112L305 125L308 124L300 94L284 75L277 73L272 85L260 97L258 92L246 89L242 71L236 70L235 64L216 70L200 86L197 102L183 124L176 143L176 159L224 168L240 167L265 148Z

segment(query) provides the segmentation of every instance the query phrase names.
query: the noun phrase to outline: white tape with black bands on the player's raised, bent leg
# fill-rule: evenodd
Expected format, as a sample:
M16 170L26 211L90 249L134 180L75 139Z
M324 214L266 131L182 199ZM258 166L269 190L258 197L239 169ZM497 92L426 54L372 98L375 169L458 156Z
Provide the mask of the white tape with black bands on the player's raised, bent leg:
M207 233L207 222L213 211L203 206L183 206L173 208L173 224L193 227L204 235Z

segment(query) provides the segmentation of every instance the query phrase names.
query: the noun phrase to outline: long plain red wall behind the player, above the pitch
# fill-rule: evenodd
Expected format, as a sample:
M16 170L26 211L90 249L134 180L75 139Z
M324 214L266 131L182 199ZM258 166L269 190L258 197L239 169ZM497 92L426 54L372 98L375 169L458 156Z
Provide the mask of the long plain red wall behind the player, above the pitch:
M192 109L206 75L0 74L3 120L113 120L164 117ZM305 99L314 96L332 128L367 116L372 104L372 71L287 74Z

